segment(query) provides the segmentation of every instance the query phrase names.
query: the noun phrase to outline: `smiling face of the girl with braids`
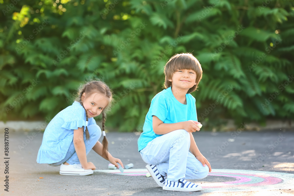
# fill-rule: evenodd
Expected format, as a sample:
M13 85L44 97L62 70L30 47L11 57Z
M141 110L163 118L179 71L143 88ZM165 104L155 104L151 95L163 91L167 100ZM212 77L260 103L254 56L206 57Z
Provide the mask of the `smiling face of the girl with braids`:
M108 99L101 93L82 94L81 101L87 112L88 118L101 114L102 110L108 105Z

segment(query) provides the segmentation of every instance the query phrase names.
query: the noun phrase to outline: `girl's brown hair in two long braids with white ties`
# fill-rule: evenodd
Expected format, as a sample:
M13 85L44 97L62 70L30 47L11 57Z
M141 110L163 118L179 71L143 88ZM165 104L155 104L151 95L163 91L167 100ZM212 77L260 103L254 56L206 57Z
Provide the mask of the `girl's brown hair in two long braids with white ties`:
M108 105L106 106L106 108L104 108L102 110L102 131L104 131L104 124L106 121L105 111L107 111L108 108L110 107L111 100L112 100L112 92L111 92L110 88L102 81L91 81L91 82L84 84L79 91L79 97L78 97L78 101L81 103L82 106L83 106L83 103L82 103L81 97L82 97L83 93L86 93L86 96L90 96L92 93L100 93L108 99ZM88 121L87 112L86 112L86 121ZM89 131L88 131L87 127L86 127L86 138L87 139L90 138ZM107 156L108 141L106 139L106 136L104 136L104 138L102 140L102 145L103 145L103 150L102 150L103 155L106 155L106 157L108 157Z

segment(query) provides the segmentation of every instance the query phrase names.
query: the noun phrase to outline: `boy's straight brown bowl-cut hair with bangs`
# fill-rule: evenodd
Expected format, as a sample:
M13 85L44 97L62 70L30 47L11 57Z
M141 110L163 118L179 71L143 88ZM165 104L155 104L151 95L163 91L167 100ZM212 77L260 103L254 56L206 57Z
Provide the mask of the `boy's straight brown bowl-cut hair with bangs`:
M194 92L202 78L202 68L197 58L191 53L176 54L169 59L164 67L164 87L169 88L172 86L172 82L169 80L173 77L173 74L176 71L181 69L191 69L196 72L196 85L190 88L187 93Z

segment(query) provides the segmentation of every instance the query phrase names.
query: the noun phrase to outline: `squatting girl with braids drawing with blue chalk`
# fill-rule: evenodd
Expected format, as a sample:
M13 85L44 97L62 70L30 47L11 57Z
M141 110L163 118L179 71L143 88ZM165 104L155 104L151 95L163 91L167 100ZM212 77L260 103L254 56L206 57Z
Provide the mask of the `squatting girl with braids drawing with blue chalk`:
M47 125L37 163L61 165L61 175L89 175L96 169L86 157L93 149L116 167L119 167L117 163L123 167L121 160L108 152L104 131L105 110L111 99L111 91L105 83L92 81L85 84L78 101L59 112ZM103 145L98 141L101 129L93 118L101 113Z

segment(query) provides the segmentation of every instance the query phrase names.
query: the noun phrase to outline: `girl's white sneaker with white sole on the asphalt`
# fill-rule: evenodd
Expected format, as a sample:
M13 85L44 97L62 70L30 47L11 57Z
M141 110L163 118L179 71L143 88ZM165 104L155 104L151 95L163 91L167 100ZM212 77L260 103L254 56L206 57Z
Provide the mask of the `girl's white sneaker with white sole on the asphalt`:
M74 165L60 165L60 175L90 175L93 174L93 170L85 170L82 168L81 164L74 164Z

